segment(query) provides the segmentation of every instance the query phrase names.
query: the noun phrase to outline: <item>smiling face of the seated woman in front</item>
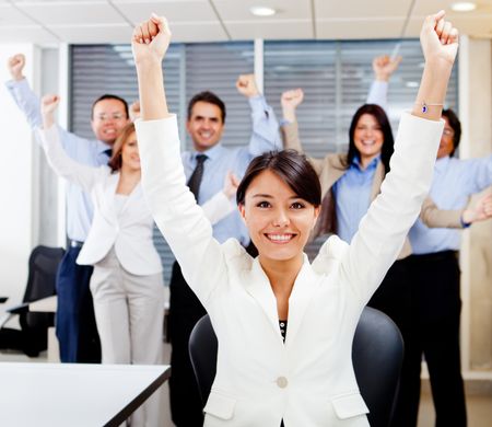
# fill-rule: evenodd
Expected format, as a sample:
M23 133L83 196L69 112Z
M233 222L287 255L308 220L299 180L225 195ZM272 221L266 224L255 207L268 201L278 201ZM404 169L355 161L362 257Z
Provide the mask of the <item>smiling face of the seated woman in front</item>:
M260 261L298 261L319 215L271 171L257 175L246 191L241 215Z

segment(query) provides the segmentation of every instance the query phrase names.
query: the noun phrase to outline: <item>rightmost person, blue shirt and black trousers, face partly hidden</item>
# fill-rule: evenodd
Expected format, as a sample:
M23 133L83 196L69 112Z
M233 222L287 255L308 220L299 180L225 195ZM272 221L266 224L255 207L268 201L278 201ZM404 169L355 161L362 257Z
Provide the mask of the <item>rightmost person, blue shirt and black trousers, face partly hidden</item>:
M430 196L442 209L461 209L471 195L492 185L492 155L469 160L454 158L461 125L452 109L443 111L443 119L445 126ZM478 219L490 217L480 206L476 211L480 216ZM464 227L467 226L469 223L464 223ZM396 425L417 425L423 354L431 378L436 427L464 427L467 425L467 414L459 351L460 232L455 229L430 229L418 220L409 236L413 249L412 320L418 345L407 355L412 367L409 372L412 381L408 383L407 391L409 405L401 413L400 424Z

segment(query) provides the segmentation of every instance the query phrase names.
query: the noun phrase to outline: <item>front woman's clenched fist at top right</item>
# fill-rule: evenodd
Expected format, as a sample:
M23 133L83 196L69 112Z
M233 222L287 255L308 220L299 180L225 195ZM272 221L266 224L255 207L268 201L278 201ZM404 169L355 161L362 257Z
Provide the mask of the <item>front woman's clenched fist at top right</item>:
M425 61L444 60L453 66L458 51L458 30L445 21L444 15L442 10L425 19L420 32L420 44Z

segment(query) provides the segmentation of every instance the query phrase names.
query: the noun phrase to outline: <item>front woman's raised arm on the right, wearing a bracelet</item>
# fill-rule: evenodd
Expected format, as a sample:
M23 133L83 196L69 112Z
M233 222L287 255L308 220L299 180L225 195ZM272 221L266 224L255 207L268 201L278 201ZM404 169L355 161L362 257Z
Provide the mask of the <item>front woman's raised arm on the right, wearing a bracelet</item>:
M425 19L421 45L425 57L422 81L412 113L400 122L391 171L341 261L340 275L361 304L396 259L431 185L443 131L442 104L458 48L457 30L444 21L443 11Z

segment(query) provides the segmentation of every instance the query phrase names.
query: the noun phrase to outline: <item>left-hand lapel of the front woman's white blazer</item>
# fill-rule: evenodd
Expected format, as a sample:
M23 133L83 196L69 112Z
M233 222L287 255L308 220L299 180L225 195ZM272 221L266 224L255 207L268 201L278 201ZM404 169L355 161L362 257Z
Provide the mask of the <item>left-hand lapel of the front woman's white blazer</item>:
M253 261L253 266L250 270L250 279L248 280L248 286L246 291L256 300L260 305L265 315L268 319L268 323L274 328L276 334L282 339L279 328L279 315L277 312L277 299L271 289L270 281L265 274L261 265L256 257Z

